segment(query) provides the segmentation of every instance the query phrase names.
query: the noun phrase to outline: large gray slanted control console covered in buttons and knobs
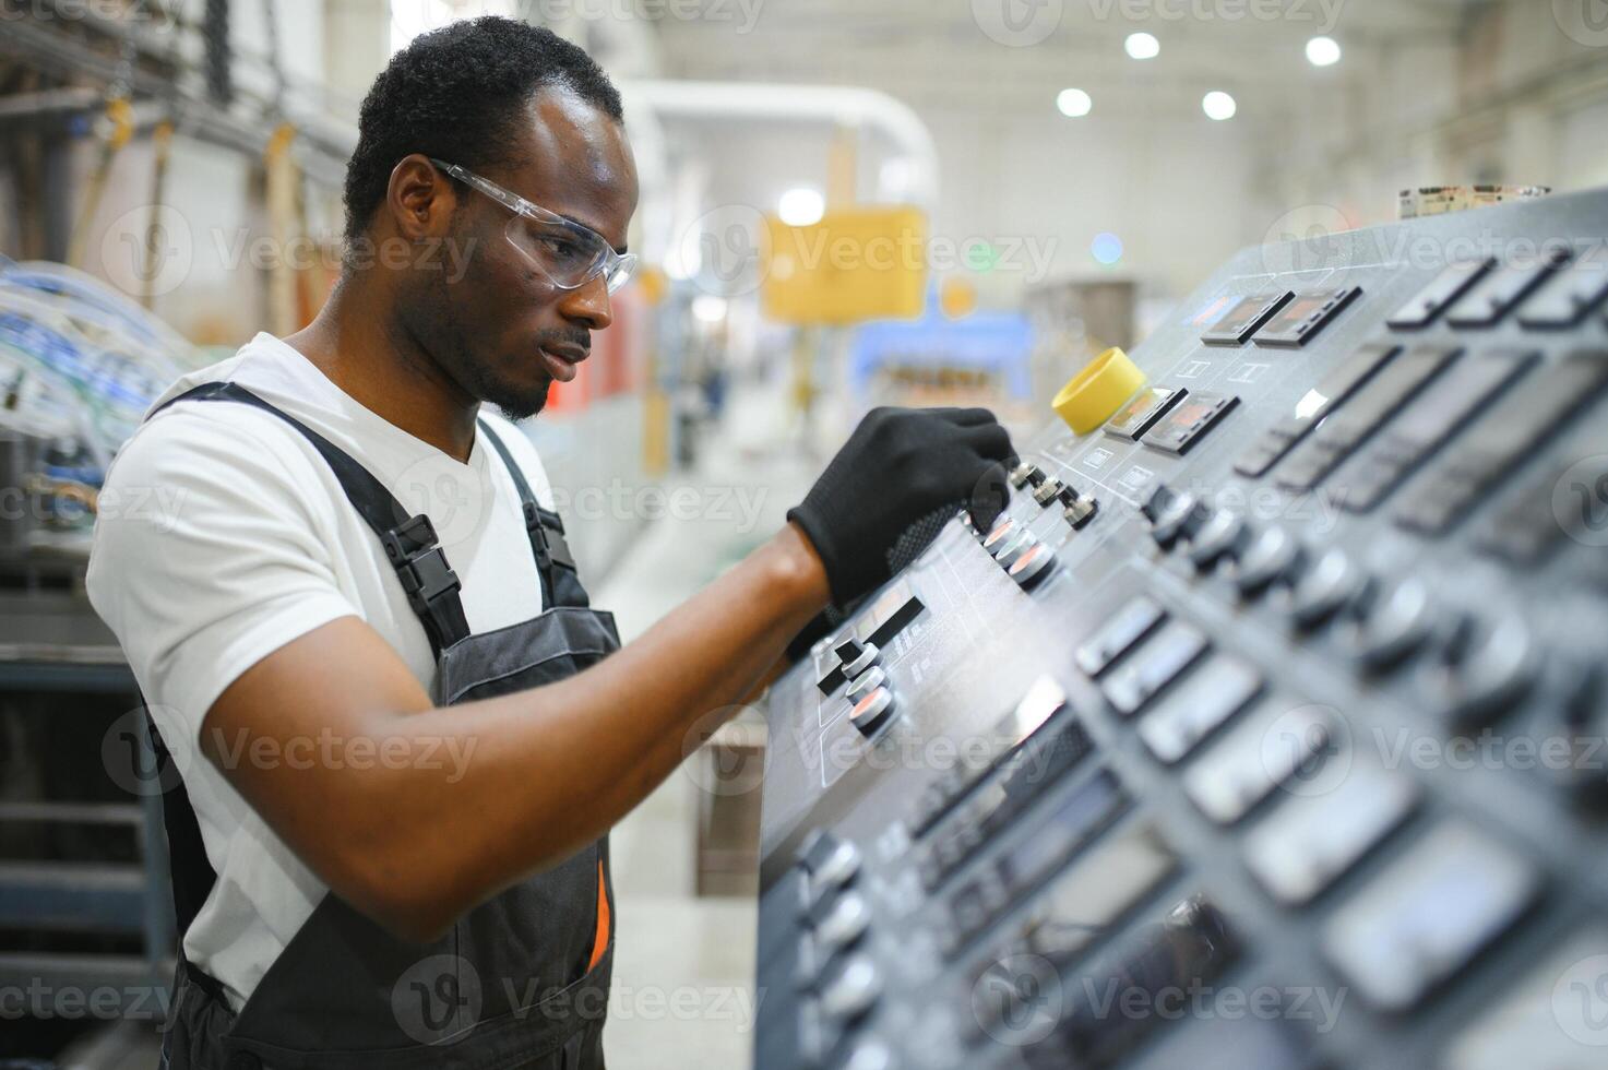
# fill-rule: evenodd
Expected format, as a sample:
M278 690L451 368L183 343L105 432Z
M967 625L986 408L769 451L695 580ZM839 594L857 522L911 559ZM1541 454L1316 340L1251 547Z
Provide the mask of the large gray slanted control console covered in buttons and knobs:
M1069 385L770 690L756 1065L1608 1062L1603 235L1249 248Z

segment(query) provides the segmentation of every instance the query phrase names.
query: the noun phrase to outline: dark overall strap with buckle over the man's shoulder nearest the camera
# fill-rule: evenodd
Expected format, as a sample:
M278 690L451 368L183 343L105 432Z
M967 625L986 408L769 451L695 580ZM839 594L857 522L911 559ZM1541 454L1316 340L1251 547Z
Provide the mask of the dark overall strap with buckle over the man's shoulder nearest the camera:
M436 528L429 523L428 515L410 516L402 502L357 459L244 386L203 383L162 402L146 415L146 420L180 401L233 401L273 414L296 428L330 465L347 500L379 537L386 560L391 562L397 579L402 581L408 605L425 626L425 634L429 637L429 647L436 656L439 658L442 650L470 634L468 621L463 616L463 602L458 597L461 584L457 573L447 565L445 554L436 544Z

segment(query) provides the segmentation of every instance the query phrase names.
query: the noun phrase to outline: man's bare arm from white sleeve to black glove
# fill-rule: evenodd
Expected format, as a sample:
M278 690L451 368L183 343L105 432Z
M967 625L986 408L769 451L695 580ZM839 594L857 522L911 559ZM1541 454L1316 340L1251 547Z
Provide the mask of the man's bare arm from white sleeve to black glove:
M201 748L336 893L425 940L603 835L682 761L704 714L736 703L827 600L820 558L788 525L600 665L449 708L434 708L384 639L347 616L227 687ZM240 747L265 737L265 753L286 755L320 734L371 740L379 759L254 764Z

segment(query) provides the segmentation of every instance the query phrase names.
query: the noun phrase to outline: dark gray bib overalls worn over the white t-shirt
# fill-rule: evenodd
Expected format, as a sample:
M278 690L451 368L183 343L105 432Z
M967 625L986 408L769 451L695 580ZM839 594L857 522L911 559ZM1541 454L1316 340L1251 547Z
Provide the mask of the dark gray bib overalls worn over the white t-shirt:
M373 528L436 653L436 702L453 705L572 676L619 648L614 618L589 608L563 537L507 447L481 434L513 476L540 573L540 616L471 636L429 518L408 516L357 460L256 394L206 383L177 401L232 401L280 417L310 441ZM151 726L158 756L166 759ZM182 785L164 798L174 904L188 928L217 875ZM333 891L235 1014L222 986L183 961L162 1044L170 1070L593 1070L613 964L608 837L412 944Z

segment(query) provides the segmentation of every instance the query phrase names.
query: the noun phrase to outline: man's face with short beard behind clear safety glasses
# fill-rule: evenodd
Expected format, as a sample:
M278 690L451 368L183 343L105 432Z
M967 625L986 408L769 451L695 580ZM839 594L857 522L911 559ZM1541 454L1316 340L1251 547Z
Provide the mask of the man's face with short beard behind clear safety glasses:
M595 230L622 253L637 208L637 167L621 126L558 87L540 90L527 116L515 146L519 164L482 177ZM555 378L574 377L592 331L613 320L608 286L601 275L576 290L555 286L510 241L515 212L463 183L452 187L457 209L442 269L416 272L397 312L465 393L516 420L534 415Z

